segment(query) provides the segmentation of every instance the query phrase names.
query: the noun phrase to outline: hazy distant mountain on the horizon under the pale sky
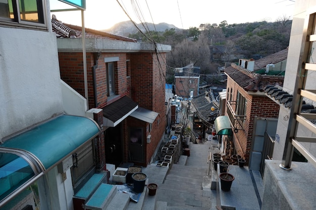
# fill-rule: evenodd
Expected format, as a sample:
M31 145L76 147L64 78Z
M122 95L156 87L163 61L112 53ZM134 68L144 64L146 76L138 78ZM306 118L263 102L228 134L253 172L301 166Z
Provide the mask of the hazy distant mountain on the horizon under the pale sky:
M136 25L142 32L145 32L145 28L142 24L139 23ZM168 24L168 23L159 23L159 24L155 24L155 26L152 23L145 23L144 25L145 27L148 27L149 31L156 30L156 31L162 32L162 31L165 31L166 29L171 29L171 28L180 30L174 25ZM131 21L124 21L124 22L115 24L112 28L101 30L101 31L106 31L106 32L121 35L121 36L128 36L129 34L137 33L138 29L134 26L134 24Z

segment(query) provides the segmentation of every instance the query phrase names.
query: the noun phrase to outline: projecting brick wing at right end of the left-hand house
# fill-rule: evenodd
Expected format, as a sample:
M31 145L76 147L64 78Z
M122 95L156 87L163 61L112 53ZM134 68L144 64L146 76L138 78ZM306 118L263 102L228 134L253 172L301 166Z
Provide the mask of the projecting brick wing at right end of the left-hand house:
M159 53L157 56L152 53L131 54L132 99L140 107L159 113L152 123L151 143L146 146L147 164L165 133L167 125L165 117L165 63L166 53ZM147 131L145 136L148 134Z

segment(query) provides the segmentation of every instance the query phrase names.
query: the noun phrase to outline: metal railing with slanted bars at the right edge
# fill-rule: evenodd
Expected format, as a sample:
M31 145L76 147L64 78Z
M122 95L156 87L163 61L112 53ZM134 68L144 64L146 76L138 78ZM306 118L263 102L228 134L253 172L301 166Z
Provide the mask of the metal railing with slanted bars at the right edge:
M287 129L285 147L283 152L282 163L280 167L283 169L290 169L293 158L294 148L296 148L314 167L316 167L316 158L308 152L306 148L300 142L316 143L315 137L298 136L298 124L302 125L306 129L313 133L316 133L315 119L316 114L302 114L301 107L303 99L309 99L316 102L316 90L306 90L306 80L311 71L316 71L316 64L309 63L309 59L312 56L312 44L316 41L315 31L316 13L309 13L306 16L303 28L303 38L301 43L299 64L297 66L297 76L295 81L293 101L291 113L289 116L289 124ZM310 72L308 72L310 71ZM314 82L314 81L310 81Z

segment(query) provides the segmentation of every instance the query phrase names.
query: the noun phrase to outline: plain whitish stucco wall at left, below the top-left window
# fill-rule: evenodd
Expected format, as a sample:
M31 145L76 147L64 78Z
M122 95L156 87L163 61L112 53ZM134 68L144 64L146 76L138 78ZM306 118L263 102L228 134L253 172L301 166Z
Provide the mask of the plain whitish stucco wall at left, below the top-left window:
M56 35L0 27L0 138L63 112Z

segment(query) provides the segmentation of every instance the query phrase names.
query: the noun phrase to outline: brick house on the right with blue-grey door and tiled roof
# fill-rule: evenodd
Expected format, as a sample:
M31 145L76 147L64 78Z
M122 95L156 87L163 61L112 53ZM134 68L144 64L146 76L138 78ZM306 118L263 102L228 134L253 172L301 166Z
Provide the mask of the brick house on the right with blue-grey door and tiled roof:
M233 135L223 141L226 154L238 154L249 167L259 170L264 146L276 134L280 106L266 96L267 87L282 87L288 49L259 60L240 59L225 68L226 115Z

